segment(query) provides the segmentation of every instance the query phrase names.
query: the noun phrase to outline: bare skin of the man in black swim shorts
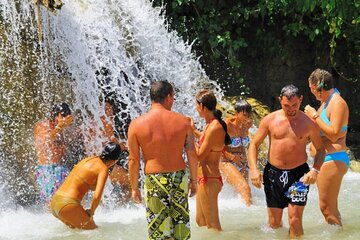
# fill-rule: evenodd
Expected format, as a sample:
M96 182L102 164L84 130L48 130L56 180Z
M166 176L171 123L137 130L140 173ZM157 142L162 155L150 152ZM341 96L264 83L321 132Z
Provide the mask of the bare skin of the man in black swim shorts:
M260 122L259 128L249 145L249 166L252 184L260 188L262 174L257 168L258 149L266 136L269 136L270 146L268 159L271 165L279 169L294 169L307 160L306 144L310 138L317 149L314 168L320 169L324 159L324 147L316 124L300 111L302 96L288 99L279 98L281 110L270 113ZM314 184L317 172L312 169L305 174L303 182ZM290 237L303 235L302 216L305 206L289 204L288 221ZM281 227L283 209L268 208L268 223L272 228Z

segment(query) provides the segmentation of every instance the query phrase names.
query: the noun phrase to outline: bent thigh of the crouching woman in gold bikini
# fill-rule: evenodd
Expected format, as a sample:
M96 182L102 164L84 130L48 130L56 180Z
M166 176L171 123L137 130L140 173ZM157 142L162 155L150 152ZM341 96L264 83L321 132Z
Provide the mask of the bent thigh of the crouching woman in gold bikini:
M88 213L79 204L68 204L63 207L58 218L71 228L95 229L97 226Z

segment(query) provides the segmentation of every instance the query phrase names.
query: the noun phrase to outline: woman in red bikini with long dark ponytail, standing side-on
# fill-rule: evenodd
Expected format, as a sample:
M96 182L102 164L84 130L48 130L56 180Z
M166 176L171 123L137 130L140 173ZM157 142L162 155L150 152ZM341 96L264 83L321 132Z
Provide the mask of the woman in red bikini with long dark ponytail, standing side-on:
M218 195L223 181L219 163L224 145L230 143L230 136L227 133L226 123L221 119L221 111L216 109L216 104L217 100L213 92L202 90L196 94L196 110L206 122L196 146L199 158L196 222L199 226L221 231ZM193 130L196 132L194 125Z

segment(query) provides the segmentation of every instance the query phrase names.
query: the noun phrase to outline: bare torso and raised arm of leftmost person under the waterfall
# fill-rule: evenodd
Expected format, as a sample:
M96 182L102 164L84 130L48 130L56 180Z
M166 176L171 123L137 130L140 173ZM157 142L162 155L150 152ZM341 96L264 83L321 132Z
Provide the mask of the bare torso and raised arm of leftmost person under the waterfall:
M54 121L44 120L34 127L35 150L38 165L59 164L65 153L62 132L73 122L73 117L61 116L59 113Z

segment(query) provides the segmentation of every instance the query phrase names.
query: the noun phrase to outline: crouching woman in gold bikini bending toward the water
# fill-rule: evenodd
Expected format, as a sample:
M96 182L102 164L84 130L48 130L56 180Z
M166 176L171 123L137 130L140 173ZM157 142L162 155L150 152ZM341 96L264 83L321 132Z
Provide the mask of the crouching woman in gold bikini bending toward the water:
M93 216L98 207L108 178L109 168L119 160L121 148L114 142L105 144L100 156L81 160L54 194L52 214L71 228L95 229ZM89 209L81 205L90 190L94 196Z

